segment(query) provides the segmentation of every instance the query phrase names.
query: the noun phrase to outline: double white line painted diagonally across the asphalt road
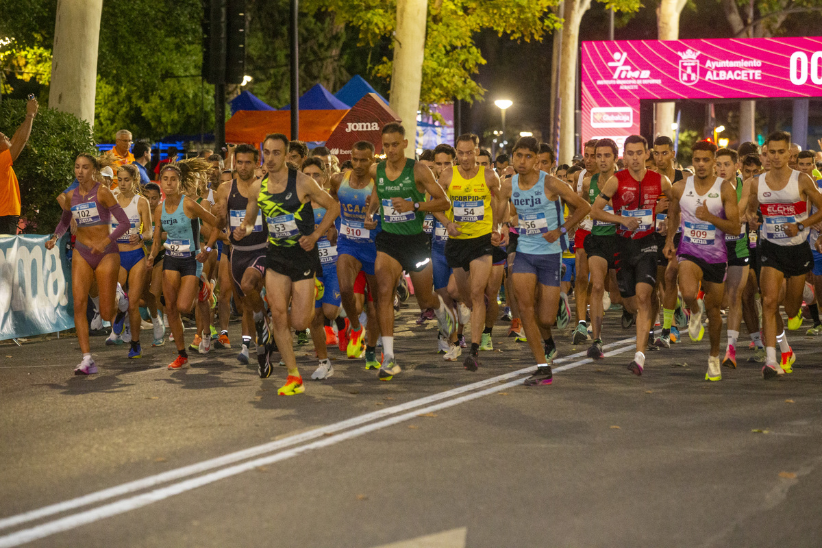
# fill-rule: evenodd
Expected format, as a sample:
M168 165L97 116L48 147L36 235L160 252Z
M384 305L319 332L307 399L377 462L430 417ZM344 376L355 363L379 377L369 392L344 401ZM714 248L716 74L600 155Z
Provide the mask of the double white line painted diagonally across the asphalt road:
M617 354L621 354L622 352L626 352L627 350L634 348L634 341L634 338L625 338L621 341L617 341L616 343L607 344L606 347L603 348L617 347L620 344L628 345L606 352L605 356L616 356ZM572 354L569 357L559 358L556 360L556 363L559 363L560 361L570 361L570 359L572 359L573 357L580 357L584 353L585 352L577 352L576 354ZM590 358L584 358L580 361L572 361L565 365L554 367L553 371L567 371L573 369L574 367L590 363L591 361L593 360L591 360ZM220 470L217 470L216 472L210 472L209 474L205 474L200 477L194 477L192 479L181 481L179 483L175 483L170 486L165 486L156 490L152 490L141 495L135 495L128 499L118 500L113 503L104 504L103 506L100 506L95 509L85 510L81 513L75 513L65 518L59 518L52 522L43 523L41 525L31 527L29 529L24 529L19 532L11 533L7 536L2 536L0 537L0 548L6 548L7 546L20 546L21 544L35 541L37 539L44 538L45 536L51 536L55 533L80 527L81 525L85 525L87 523L94 523L103 518L110 518L120 513L126 513L134 509L142 508L143 506L158 502L159 500L167 499L173 495L179 495L188 490L208 485L210 483L219 481L226 477L232 477L242 472L253 470L256 467L265 466L266 464L278 463L282 460L296 457L302 453L306 453L314 449L328 447L333 444L338 444L341 441L350 440L360 435L381 430L383 428L386 428L387 426L393 426L395 424L399 424L400 422L409 421L414 417L418 417L418 415L426 412L434 412L440 409L450 408L452 406L459 405L460 403L465 403L476 398L483 398L483 396L487 396L489 394L496 394L496 392L501 392L502 390L522 385L522 380L517 379L514 381L506 382L504 384L497 383L501 383L504 380L509 380L511 378L524 375L524 373L527 373L529 371L533 371L533 366L525 367L523 369L520 369L519 371L511 371L510 373L506 373L505 375L497 375L490 379L481 380L470 385L460 386L455 389L446 390L445 392L441 392L438 394L432 394L431 396L419 398L408 403L396 405L392 408L381 409L376 412L366 413L365 415L360 415L358 417L353 417L345 421L340 421L333 425L322 426L321 428L317 428L312 431L307 431L303 432L302 434L289 436L288 438L284 438L283 440L277 440L267 444L257 445L256 447L243 449L242 451L237 451L235 453L227 454L222 457L211 458L209 460L202 461L201 463L195 463L187 467L169 470L169 472L163 472L155 476L145 477L141 480L131 481L128 483L124 483L120 486L110 487L109 489L100 490L96 493L90 493L89 495L84 495L76 499L66 500L58 504L51 504L49 506L45 506L41 509L35 509L31 510L30 512L17 514L16 516L11 516L9 518L4 518L0 520L0 528L12 527L15 525L19 525L21 523L32 521L34 519L44 518L46 516L53 515L54 513L65 512L70 509L76 509L88 504L94 504L96 502L108 500L115 496L126 495L127 493L131 493L136 490L147 489L149 487L159 485L160 483L181 479L182 477L187 477L191 476L192 474L205 472L206 470L210 470L215 467L221 467L230 463L235 463L240 460L251 458L259 454L266 454L277 449L283 449L285 447L289 447L289 445L299 444L304 441L314 440L316 438L323 438L321 440L316 440L311 444L304 444L300 445L299 447L294 447L292 449L281 450L279 451L279 453L268 455L266 457L256 458L254 460L247 461L241 464L236 464L231 467L225 467ZM409 409L418 408L421 405L427 405L428 403L433 403L442 399L450 398L451 396L455 396L457 394L470 392L473 389L478 389L482 388L483 386L495 384L496 386L492 386L491 388L483 389L478 392L473 392L471 394L466 394L460 396L459 398L449 399L445 402L436 403L426 408L414 409L412 412L407 412L402 415L397 415L397 413L399 412L404 412ZM373 422L372 424L368 424L366 426L359 426L354 430L346 431L341 434L330 435L336 431L345 430L352 426L358 426L369 421L374 421L376 419L383 420Z

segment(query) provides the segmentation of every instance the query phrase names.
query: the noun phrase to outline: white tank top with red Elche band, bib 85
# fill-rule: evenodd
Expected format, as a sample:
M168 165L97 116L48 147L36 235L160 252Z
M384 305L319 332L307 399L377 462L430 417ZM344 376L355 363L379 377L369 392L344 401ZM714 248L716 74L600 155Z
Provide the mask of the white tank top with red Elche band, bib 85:
M810 227L805 227L794 237L785 234L787 223L799 223L808 218L808 203L799 196L799 172L794 169L787 185L781 191L774 191L765 182L765 173L759 176L757 197L764 223L760 237L778 246L798 246L806 242Z

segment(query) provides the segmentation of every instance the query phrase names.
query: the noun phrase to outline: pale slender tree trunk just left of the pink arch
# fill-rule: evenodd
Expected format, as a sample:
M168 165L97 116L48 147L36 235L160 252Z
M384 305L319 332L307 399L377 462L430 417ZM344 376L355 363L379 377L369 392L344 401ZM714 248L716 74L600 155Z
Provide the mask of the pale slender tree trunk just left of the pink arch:
M558 163L571 163L574 156L576 65L580 54L580 21L591 7L591 0L565 0L562 18L560 63L560 157Z

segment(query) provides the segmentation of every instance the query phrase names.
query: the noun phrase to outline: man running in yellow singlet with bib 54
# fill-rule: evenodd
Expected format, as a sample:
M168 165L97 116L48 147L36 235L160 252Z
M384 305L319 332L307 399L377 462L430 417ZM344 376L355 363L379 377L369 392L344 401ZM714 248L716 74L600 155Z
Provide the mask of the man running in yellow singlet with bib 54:
M448 231L446 260L454 271L459 300L470 303L471 348L463 361L468 371L477 371L479 367L480 343L486 343L486 348L491 345L491 333L483 341L485 331L481 330L486 324L485 292L491 277L492 247L501 242L499 219L506 216L507 205L507 201L501 205L501 200L493 197L499 195L500 178L492 170L478 166L478 151L478 136L466 133L457 137L458 165L443 171L439 180L451 209L445 214L434 214ZM496 304L496 295L493 300Z

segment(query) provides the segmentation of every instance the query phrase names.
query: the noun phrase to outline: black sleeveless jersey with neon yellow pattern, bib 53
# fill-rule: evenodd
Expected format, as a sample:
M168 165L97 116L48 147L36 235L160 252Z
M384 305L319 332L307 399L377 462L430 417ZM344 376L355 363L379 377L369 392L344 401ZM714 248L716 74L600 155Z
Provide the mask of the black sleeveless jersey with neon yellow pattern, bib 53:
M314 212L311 201L300 201L297 194L297 170L289 168L285 190L268 191L268 176L260 185L257 196L263 219L268 225L268 242L272 246L293 247L303 236L314 232Z

